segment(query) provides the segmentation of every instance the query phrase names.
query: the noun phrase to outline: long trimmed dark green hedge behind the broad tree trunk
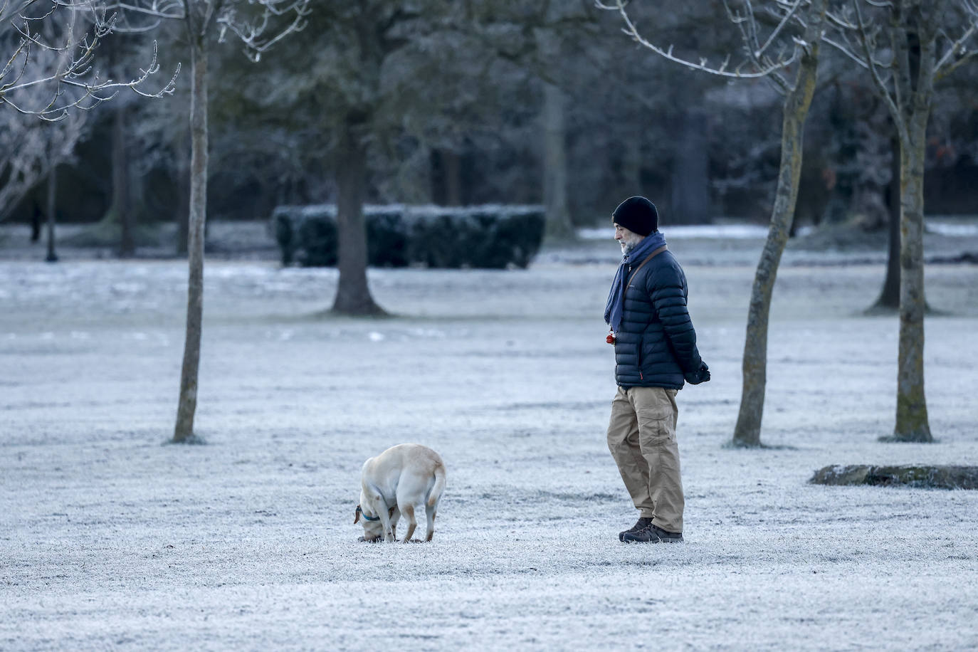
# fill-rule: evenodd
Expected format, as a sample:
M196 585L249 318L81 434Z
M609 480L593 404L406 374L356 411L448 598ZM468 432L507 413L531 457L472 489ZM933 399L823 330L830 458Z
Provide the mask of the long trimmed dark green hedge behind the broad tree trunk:
M543 206L364 206L374 267L525 268L544 237ZM336 264L336 206L279 206L272 213L282 264Z

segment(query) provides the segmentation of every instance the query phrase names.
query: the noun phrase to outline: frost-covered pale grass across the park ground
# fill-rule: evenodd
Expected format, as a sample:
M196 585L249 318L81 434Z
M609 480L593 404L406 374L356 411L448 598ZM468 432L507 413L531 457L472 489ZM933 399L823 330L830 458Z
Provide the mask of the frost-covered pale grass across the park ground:
M688 543L670 546L617 541L637 514L604 443L610 240L527 271L372 270L383 320L324 315L332 269L209 260L203 446L163 444L186 264L12 255L0 648L975 648L978 493L807 480L831 463L978 464L978 266L927 268L938 443L881 444L898 323L862 310L883 251L793 244L772 448L733 450L760 246L670 240L713 375L679 395ZM434 541L358 543L360 466L401 442L448 466Z

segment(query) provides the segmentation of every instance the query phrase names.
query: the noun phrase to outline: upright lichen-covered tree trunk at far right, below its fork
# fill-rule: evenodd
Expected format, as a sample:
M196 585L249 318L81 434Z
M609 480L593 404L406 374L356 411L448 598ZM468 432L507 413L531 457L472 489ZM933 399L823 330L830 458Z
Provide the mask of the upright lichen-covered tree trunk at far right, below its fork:
M923 113L921 115L920 113ZM893 440L932 442L923 384L923 173L927 114L908 125L911 142L901 147L900 349L897 423ZM890 439L890 438L886 438Z

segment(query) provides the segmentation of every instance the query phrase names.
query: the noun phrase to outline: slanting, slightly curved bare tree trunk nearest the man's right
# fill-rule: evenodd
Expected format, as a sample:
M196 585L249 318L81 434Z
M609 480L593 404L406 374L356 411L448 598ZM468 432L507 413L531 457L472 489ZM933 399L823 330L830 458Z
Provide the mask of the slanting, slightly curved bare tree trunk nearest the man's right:
M761 260L757 264L750 295L747 334L743 346L740 411L733 429L734 446L761 446L761 420L764 416L764 394L768 381L768 318L771 313L771 295L798 196L805 118L815 94L824 17L824 0L815 0L805 29L805 41L810 49L802 57L794 86L784 98L778 190L771 212L768 239L761 251Z

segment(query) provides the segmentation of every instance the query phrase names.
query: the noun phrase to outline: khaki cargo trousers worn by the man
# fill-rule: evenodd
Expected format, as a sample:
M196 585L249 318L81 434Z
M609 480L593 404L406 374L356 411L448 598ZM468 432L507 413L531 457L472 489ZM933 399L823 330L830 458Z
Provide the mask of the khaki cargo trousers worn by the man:
M608 449L636 509L667 532L683 532L678 417L675 389L619 387L608 423Z

